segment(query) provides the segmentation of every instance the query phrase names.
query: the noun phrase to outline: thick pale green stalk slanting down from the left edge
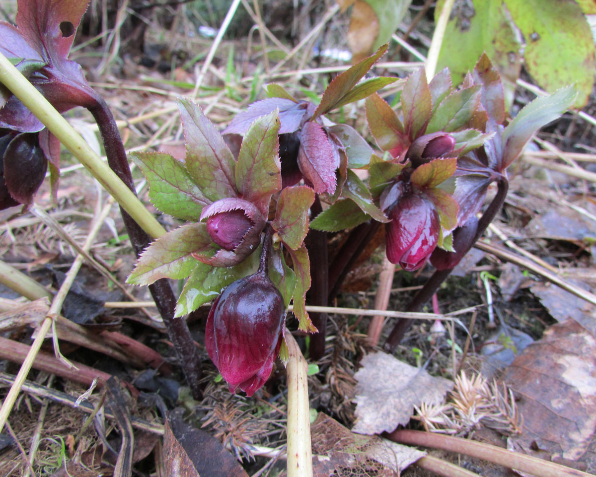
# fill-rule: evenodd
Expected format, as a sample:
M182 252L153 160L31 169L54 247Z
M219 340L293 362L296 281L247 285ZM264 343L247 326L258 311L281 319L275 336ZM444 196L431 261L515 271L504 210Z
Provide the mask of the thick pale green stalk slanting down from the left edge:
M93 174L131 217L153 238L166 231L135 194L116 176L66 119L35 89L20 71L0 53L0 83L50 130L58 140Z

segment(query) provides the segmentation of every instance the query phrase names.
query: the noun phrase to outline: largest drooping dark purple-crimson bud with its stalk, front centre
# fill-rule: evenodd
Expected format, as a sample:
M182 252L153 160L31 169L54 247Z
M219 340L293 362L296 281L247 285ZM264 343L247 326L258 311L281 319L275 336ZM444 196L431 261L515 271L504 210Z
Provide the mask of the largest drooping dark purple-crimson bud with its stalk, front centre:
M283 339L284 299L265 266L271 236L265 238L259 271L236 280L216 298L205 330L207 353L230 391L240 388L248 396L269 378Z

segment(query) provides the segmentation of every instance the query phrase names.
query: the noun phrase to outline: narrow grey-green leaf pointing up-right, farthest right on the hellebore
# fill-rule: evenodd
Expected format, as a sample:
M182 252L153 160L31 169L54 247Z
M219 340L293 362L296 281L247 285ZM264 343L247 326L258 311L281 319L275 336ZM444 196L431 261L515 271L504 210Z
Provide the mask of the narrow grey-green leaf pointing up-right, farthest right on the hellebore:
M501 170L509 166L522 152L526 142L538 129L550 123L573 105L575 87L559 89L550 96L542 96L525 105L515 119L505 127L502 136L503 159Z

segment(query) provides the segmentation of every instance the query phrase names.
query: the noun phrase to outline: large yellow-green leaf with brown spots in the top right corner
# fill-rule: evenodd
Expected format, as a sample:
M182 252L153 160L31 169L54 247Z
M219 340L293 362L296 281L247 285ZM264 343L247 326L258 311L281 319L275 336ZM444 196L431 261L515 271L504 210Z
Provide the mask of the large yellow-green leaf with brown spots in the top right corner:
M594 86L594 38L582 8L573 0L505 0L526 39L524 63L541 88L575 85L582 108Z

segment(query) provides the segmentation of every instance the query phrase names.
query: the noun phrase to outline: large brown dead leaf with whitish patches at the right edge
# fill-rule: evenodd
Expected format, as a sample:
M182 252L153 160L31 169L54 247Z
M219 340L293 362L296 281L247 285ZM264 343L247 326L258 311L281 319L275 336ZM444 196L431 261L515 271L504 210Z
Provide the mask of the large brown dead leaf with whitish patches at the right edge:
M596 339L583 326L571 319L552 326L502 380L520 397L524 425L515 444L551 459L586 453L596 429Z

